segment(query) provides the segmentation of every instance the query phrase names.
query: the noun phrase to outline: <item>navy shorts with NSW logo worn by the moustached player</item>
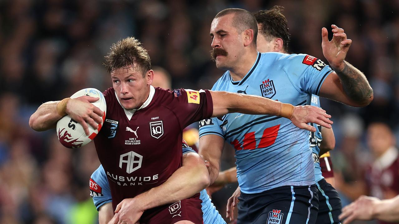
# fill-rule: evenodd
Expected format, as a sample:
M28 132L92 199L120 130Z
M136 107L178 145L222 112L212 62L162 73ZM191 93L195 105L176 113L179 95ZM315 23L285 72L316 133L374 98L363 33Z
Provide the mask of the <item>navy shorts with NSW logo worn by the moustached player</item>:
M318 212L318 189L283 186L257 194L241 192L237 224L314 224Z

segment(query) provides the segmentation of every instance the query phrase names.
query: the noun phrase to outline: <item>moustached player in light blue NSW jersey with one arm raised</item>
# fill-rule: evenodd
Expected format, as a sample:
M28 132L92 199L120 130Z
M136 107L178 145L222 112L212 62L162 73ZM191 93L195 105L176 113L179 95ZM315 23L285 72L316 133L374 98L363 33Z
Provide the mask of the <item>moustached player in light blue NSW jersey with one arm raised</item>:
M257 94L305 105L309 94L365 106L373 91L365 76L344 61L352 41L332 26L322 29L329 66L310 55L258 53L257 22L246 10L219 12L211 24L213 57L228 70L213 90ZM210 162L211 183L219 173L224 141L236 149L241 187L238 223L315 223L318 190L308 132L275 116L227 114L201 122L199 153Z

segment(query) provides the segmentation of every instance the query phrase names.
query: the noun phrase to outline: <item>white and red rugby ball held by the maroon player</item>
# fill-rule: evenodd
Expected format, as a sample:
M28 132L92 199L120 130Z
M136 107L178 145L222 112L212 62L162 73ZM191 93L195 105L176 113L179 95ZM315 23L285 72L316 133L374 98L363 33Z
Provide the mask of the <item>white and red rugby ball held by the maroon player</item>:
M103 122L99 124L97 129L92 128L88 124L90 134L89 136L87 136L81 124L73 120L69 115L63 116L63 118L58 120L56 130L59 142L63 146L68 148L79 148L93 140L103 126L105 120L105 112L107 112L107 104L105 102L104 95L100 90L95 88L85 88L77 91L71 96L71 98L77 98L79 96L93 96L100 98L92 104L100 108L101 111L103 111Z

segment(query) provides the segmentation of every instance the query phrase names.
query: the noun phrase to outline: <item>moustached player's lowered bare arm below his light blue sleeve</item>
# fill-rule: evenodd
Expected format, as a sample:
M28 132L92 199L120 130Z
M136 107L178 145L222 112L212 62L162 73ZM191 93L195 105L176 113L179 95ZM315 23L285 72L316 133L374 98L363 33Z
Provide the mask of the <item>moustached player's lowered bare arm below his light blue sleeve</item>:
M205 135L199 138L198 153L209 162L208 171L211 184L215 182L219 175L224 142L224 139L218 135Z

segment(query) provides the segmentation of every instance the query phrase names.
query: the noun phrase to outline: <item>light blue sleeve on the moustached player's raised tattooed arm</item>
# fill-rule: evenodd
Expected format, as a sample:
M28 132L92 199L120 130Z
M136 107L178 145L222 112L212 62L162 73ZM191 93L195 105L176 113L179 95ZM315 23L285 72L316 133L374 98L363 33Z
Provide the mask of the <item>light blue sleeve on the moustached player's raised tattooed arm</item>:
M304 54L292 54L284 65L292 83L302 92L319 95L320 88L332 72L330 66L322 60Z

